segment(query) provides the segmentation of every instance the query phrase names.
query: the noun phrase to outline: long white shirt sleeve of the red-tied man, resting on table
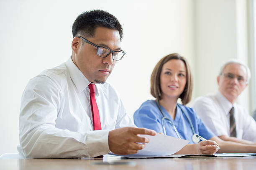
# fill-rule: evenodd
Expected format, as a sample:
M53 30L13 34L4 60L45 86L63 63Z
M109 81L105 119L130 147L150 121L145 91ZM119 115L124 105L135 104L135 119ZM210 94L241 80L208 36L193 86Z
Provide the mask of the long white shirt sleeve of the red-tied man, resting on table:
M108 130L71 132L55 127L61 90L47 76L26 86L20 107L20 154L29 158L95 157L107 154Z

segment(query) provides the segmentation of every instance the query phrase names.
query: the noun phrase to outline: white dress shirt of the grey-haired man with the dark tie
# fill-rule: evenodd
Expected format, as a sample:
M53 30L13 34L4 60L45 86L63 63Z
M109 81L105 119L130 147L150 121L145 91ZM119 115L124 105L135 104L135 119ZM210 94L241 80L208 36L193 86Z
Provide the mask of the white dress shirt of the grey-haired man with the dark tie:
M193 107L203 122L216 136L230 136L229 112L235 109L236 134L238 139L256 142L256 122L239 104L231 104L220 91L198 97Z

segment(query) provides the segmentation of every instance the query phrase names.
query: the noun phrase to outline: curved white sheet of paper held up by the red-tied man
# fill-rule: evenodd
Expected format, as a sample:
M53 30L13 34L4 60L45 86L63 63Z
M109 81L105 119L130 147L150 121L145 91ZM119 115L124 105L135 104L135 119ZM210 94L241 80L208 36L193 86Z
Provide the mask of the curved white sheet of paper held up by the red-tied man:
M144 147L143 150L139 150L137 155L172 155L181 150L182 147L187 145L189 142L188 140L182 140L159 133L157 133L156 136L150 136L146 134L140 134L139 136L145 136L149 138L150 142L146 143L146 147Z

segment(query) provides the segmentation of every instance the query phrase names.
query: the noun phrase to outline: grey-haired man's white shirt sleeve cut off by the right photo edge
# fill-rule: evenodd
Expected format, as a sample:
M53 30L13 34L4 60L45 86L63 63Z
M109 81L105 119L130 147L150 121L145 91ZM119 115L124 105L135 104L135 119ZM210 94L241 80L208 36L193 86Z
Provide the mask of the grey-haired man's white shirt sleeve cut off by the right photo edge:
M256 122L243 109L243 139L256 142Z

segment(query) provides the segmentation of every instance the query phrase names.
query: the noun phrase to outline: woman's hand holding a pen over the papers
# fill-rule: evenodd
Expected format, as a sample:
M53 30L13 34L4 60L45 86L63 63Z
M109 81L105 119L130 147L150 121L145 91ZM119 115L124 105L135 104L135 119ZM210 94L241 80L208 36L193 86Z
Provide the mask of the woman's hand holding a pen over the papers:
M215 141L206 140L201 141L196 145L197 154L215 154L218 151L219 146Z

